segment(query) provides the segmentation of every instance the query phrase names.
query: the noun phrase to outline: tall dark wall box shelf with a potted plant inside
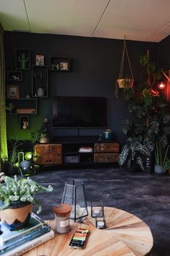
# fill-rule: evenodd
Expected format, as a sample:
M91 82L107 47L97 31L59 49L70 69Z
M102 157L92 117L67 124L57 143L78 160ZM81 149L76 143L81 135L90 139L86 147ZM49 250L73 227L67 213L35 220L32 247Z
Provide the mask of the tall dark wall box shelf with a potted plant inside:
M48 97L48 66L32 65L32 96Z

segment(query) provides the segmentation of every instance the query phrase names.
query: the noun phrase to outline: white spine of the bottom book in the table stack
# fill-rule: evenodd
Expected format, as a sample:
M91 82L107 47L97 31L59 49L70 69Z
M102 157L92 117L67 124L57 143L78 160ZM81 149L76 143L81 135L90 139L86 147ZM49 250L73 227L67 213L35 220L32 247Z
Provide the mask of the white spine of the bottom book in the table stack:
M43 234L42 236L39 236L36 239L33 239L32 241L27 241L25 244L22 244L19 247L15 247L9 252L4 253L3 256L20 256L25 252L30 251L30 249L38 247L39 245L52 239L53 237L54 237L54 231L51 230L48 233Z

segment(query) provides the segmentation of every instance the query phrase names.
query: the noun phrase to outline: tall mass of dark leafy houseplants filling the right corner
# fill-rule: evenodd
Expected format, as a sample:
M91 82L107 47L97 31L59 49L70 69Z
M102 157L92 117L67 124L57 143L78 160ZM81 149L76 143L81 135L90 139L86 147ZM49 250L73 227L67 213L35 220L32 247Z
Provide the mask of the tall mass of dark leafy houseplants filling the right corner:
M169 102L166 96L156 90L156 82L161 78L161 70L150 62L147 55L140 57L140 63L146 67L145 83L124 92L128 110L135 114L137 123L124 122L123 131L128 138L135 136L136 141L147 146L153 152L156 141L165 148L170 134Z

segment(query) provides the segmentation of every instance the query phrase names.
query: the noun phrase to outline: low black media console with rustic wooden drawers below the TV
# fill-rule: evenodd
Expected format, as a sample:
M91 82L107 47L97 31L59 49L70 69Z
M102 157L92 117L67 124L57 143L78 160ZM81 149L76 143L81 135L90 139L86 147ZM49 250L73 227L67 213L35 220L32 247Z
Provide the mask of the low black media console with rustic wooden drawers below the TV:
M117 162L119 144L94 138L57 139L50 144L35 145L37 165L85 165Z

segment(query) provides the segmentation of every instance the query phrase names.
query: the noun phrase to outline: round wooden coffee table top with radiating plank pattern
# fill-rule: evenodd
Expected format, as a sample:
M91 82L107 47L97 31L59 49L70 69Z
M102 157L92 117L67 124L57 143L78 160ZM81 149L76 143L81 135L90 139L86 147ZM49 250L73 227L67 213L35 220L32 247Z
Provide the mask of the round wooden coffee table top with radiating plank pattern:
M68 234L56 234L54 239L41 244L25 256L142 256L153 247L150 228L129 212L113 207L104 207L106 229L95 228L95 219L90 217L84 223L70 223ZM48 221L54 228L54 220ZM85 249L69 248L69 241L76 228L88 228L90 236Z

